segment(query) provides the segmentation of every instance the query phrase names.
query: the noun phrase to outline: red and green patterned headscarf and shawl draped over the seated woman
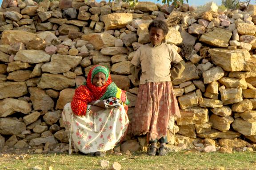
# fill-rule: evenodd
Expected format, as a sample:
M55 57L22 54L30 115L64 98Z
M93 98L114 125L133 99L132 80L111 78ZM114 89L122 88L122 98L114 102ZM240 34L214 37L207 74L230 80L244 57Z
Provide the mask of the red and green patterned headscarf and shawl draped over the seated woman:
M99 72L106 75L106 83L101 87L92 84L92 78ZM89 71L86 83L76 89L71 102L71 108L74 114L78 116L86 115L88 103L110 97L117 97L128 104L125 91L117 88L115 83L112 83L108 68L102 65L96 65Z

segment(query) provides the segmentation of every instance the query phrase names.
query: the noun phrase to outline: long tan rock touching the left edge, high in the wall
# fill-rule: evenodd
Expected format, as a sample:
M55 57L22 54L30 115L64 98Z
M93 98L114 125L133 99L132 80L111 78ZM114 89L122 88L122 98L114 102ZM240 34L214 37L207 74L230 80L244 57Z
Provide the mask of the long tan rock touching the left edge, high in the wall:
M2 33L2 43L3 44L15 44L16 42L23 42L26 45L32 39L36 39L36 34L18 31L18 30L7 30Z

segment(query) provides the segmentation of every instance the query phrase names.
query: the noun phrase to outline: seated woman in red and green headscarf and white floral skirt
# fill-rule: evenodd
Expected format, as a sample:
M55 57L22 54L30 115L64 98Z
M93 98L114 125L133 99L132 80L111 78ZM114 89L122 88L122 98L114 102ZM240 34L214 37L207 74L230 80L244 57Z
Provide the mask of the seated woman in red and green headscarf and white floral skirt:
M105 66L94 66L80 85L71 103L62 112L66 130L80 152L104 156L124 137L128 128L128 100L125 91L112 83Z

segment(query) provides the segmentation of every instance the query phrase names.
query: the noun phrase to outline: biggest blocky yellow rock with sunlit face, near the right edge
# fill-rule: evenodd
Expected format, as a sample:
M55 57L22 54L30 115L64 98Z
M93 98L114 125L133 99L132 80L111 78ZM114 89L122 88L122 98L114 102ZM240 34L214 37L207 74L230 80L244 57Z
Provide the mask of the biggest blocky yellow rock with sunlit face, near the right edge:
M251 58L250 53L244 49L213 48L208 52L211 55L212 62L225 71L243 71L246 62Z

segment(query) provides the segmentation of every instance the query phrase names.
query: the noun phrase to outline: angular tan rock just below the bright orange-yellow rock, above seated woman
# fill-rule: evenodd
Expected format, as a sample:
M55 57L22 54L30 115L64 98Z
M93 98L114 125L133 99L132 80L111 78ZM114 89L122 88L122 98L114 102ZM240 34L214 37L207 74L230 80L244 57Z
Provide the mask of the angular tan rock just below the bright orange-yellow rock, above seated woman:
M82 39L89 41L94 46L95 50L115 46L115 41L117 40L116 37L107 32L82 35Z

